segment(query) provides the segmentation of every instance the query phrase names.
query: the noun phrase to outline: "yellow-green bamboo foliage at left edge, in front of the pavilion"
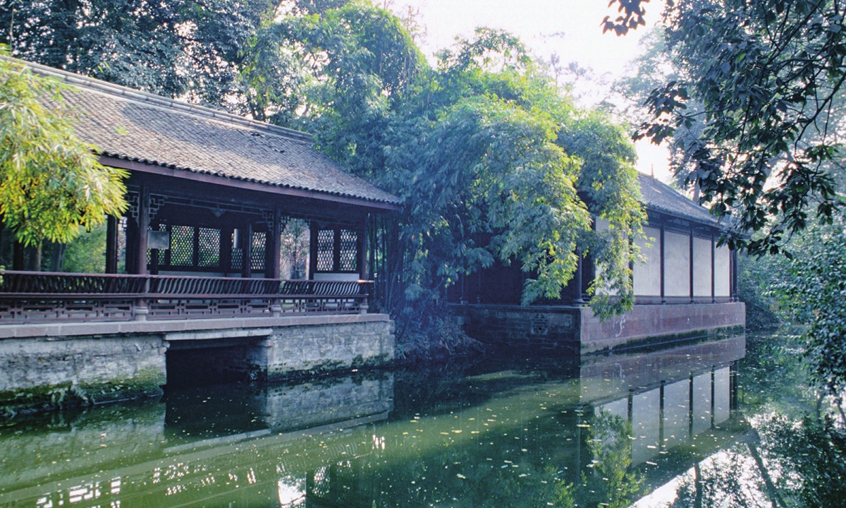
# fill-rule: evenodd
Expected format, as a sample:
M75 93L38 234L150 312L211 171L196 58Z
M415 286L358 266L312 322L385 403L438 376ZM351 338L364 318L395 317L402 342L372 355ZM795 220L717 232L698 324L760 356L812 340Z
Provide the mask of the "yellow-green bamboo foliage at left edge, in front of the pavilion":
M127 207L121 169L97 162L63 105L68 86L33 74L0 47L0 214L24 245L66 243ZM48 107L45 102L50 102Z

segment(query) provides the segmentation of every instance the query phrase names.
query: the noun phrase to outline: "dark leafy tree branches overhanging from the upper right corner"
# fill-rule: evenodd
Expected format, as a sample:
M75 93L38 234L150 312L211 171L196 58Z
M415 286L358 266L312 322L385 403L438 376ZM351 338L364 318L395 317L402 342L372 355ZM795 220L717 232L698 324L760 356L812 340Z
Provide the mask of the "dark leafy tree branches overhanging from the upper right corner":
M606 30L642 25L644 3L620 0ZM722 239L729 246L781 251L809 213L830 221L842 205L832 171L843 135L844 9L811 0L667 3L665 43L679 77L651 92L651 120L638 136L660 142L704 124L684 146L694 165L686 178L717 216L733 218Z

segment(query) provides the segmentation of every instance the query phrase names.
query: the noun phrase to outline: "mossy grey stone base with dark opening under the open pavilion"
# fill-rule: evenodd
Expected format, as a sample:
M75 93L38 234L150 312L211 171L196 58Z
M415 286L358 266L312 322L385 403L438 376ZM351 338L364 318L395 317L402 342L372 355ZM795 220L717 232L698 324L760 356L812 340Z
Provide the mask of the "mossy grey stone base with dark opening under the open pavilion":
M160 396L165 384L378 367L393 361L395 346L393 323L385 314L134 326L115 334L114 323L88 323L57 336L37 325L3 327L0 415Z

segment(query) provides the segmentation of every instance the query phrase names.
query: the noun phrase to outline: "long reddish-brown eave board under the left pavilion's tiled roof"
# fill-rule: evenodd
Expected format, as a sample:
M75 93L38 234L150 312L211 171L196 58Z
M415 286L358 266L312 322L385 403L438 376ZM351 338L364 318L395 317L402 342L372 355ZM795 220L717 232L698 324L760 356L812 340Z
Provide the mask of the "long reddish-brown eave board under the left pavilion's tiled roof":
M228 187L237 187L239 189L247 189L250 191L266 192L269 194L307 197L324 202L337 202L358 205L360 207L376 208L377 210L398 210L400 205L387 202L376 202L359 197L352 196L338 196L328 192L309 191L305 189L294 189L292 187L283 187L281 185L261 184L259 182L248 181L244 179L236 179L228 176L219 176L217 174L196 173L188 169L167 168L158 164L139 163L129 161L118 157L100 156L100 163L104 166L112 168L129 169L130 171L138 171L146 174L159 174L179 179L190 179L195 182L206 182L214 185L225 185Z

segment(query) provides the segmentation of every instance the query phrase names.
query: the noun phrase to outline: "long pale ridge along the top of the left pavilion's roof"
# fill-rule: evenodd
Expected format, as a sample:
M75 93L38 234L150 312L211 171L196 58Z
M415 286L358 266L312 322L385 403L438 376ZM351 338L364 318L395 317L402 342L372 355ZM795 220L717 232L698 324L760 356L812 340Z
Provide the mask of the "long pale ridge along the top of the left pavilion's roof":
M268 124L266 122L261 122L259 120L254 119L245 119L244 117L240 117L237 114L217 111L215 109L206 108L205 106L190 104L188 102L182 102L176 99L169 99L168 97L162 97L154 93L138 91L129 88L128 86L115 85L114 83L109 83L108 81L97 80L96 78L92 78L90 76L75 74L67 70L56 69L54 67L42 65L41 63L30 62L28 60L22 60L20 58L11 58L0 55L0 59L8 62L18 63L26 68L31 69L37 74L47 75L52 78L62 80L65 83L68 83L69 85L79 86L82 88L89 89L91 91L98 91L105 95L121 97L132 102L157 106L159 108L166 108L173 112L201 117L204 119L223 120L230 124L239 124L242 127L247 127L249 129L254 130L261 130L266 133L279 135L282 137L294 138L298 141L314 141L310 133L303 132L301 130L288 129L287 127L280 127L279 125Z

